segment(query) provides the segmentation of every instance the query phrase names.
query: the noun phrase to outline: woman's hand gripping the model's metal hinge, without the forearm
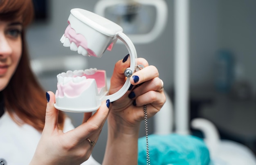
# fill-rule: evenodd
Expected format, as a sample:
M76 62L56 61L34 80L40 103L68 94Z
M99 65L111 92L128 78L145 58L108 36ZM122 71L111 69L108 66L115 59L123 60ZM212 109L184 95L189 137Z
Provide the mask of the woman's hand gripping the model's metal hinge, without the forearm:
M126 94L112 103L108 123L114 129L129 133L139 127L144 120L143 105L147 108L147 117L155 115L164 105L166 97L163 91L163 81L155 66L149 66L146 59L138 58L137 65L144 68L133 73L130 77L131 87ZM117 92L124 84L124 71L130 66L130 58L126 56L119 60L114 68L109 93ZM127 132L126 132L127 131ZM134 133L134 132L130 132Z

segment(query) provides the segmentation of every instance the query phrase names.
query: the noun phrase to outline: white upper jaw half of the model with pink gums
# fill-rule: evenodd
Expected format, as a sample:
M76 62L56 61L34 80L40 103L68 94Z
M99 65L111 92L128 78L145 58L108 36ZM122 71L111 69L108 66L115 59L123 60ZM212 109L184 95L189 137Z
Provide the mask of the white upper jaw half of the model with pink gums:
M111 51L117 41L117 33L123 29L111 21L101 24L106 19L96 19L95 15L83 9L72 9L67 21L69 25L61 37L63 46L84 56L101 57L106 49Z

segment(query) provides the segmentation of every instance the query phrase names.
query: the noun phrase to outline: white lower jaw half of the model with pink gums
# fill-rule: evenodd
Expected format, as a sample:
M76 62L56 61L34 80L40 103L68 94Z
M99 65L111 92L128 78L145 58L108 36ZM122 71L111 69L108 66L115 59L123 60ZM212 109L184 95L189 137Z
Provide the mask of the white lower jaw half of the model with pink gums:
M105 70L68 70L57 75L55 107L66 112L92 112L108 95Z

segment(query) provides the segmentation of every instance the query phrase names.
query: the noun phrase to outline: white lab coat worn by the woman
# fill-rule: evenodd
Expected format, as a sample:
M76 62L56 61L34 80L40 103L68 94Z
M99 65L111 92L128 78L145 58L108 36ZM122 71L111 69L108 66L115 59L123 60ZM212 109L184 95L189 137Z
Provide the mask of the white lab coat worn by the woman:
M69 118L65 119L64 132L74 129ZM0 118L0 163L28 165L36 150L41 133L28 124L18 125L5 112ZM1 164L1 165L2 165ZM99 165L90 158L83 165Z

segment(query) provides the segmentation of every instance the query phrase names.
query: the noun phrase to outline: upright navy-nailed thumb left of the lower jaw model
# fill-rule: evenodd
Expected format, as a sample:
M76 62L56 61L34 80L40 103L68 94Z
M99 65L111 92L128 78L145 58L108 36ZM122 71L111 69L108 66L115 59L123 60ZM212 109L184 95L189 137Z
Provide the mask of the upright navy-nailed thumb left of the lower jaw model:
M58 127L58 110L54 107L55 95L53 92L46 92L47 106L45 112L45 131L53 131Z

